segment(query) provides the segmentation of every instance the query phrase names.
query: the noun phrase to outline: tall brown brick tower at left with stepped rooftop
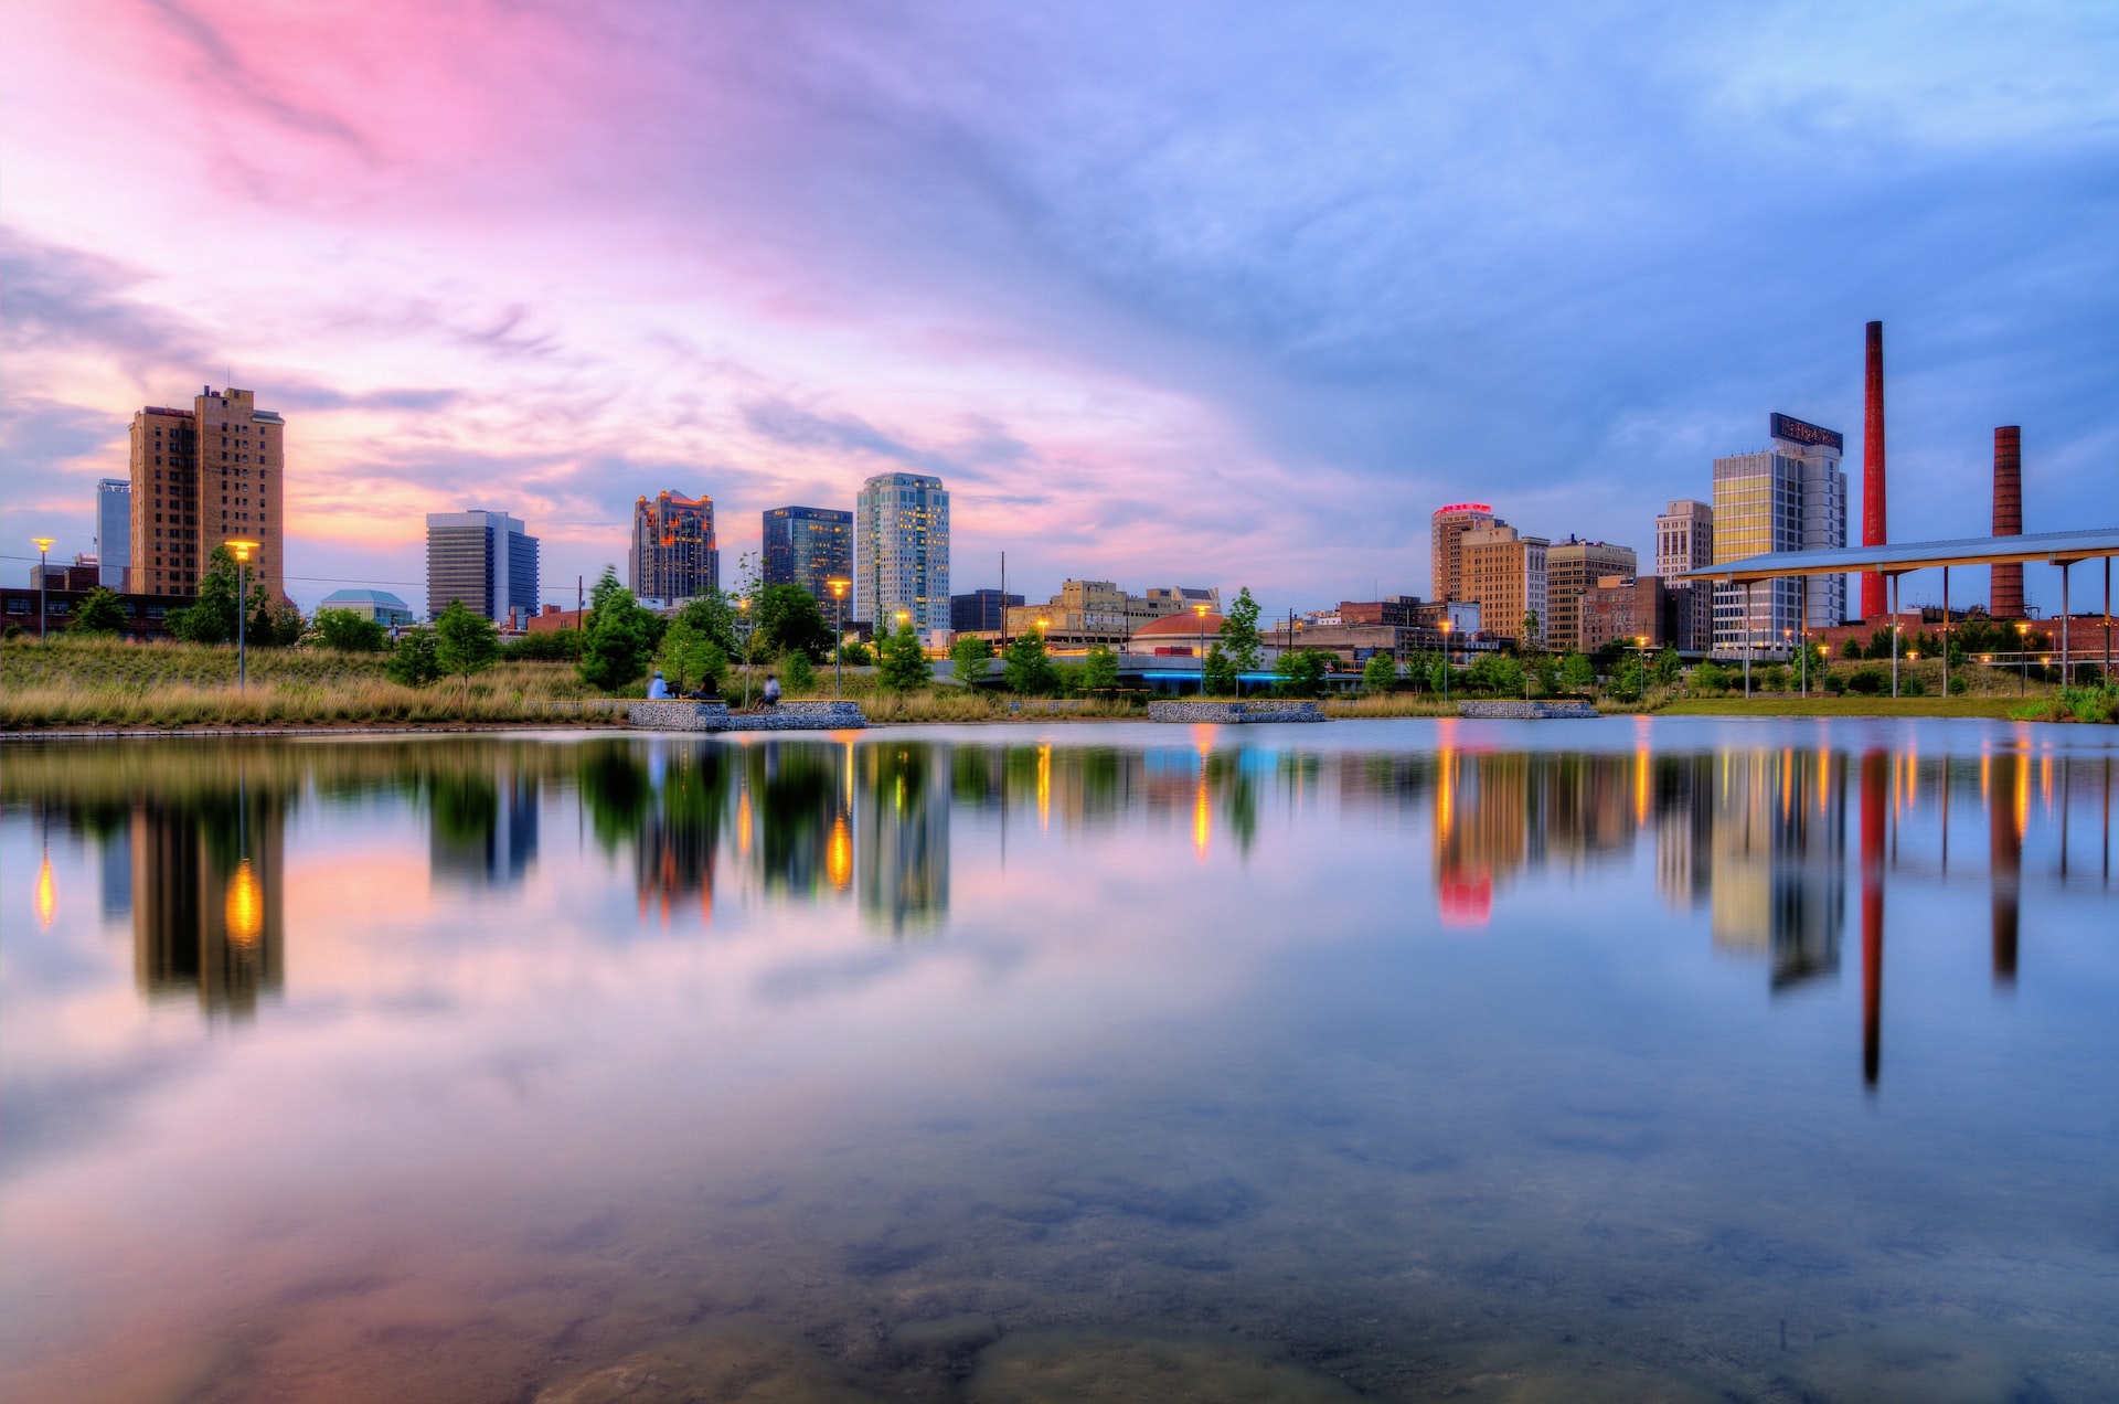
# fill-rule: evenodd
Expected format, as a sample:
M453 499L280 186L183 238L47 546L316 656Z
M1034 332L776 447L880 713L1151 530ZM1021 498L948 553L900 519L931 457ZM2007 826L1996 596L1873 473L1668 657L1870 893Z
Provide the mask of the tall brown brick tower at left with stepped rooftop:
M286 420L250 390L214 392L191 409L148 405L131 424L131 587L199 592L222 541L256 541L250 579L286 594Z

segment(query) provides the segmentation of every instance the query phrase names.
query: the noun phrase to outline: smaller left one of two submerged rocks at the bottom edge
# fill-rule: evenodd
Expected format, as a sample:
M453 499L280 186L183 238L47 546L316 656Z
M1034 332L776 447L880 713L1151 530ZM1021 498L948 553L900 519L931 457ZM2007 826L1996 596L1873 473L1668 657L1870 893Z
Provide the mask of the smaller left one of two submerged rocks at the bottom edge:
M536 1404L852 1404L875 1396L809 1351L763 1332L708 1330L661 1340L538 1391Z

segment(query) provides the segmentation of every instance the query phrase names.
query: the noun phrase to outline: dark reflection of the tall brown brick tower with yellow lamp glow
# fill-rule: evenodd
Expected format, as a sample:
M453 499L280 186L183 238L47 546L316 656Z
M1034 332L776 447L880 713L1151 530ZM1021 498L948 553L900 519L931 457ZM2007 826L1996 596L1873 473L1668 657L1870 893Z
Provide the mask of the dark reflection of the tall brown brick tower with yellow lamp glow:
M225 791L144 800L131 848L142 993L252 1016L286 978L286 791L237 778Z

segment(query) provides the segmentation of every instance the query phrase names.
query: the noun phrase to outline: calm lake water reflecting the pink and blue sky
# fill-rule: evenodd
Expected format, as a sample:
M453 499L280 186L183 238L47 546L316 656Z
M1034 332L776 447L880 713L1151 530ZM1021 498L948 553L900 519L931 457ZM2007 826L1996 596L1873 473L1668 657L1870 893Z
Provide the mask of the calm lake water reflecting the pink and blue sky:
M8 1400L2119 1396L2106 730L0 764Z

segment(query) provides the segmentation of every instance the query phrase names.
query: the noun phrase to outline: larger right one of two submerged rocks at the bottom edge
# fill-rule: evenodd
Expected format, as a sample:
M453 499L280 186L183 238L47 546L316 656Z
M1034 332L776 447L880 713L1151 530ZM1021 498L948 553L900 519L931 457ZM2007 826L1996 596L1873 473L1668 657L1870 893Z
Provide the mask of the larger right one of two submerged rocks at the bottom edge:
M973 1404L1155 1400L1206 1404L1348 1404L1339 1381L1233 1340L1165 1340L1115 1332L1026 1332L979 1357Z

